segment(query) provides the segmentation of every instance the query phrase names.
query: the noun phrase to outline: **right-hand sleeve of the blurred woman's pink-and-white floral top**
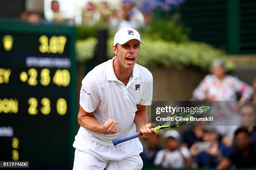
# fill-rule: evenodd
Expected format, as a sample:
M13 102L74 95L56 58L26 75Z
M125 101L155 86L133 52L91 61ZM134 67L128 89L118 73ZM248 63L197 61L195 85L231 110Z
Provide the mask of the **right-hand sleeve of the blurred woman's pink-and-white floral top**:
M239 80L237 77L234 77L233 80L236 92L241 94L241 99L249 100L253 95L253 88L245 82Z

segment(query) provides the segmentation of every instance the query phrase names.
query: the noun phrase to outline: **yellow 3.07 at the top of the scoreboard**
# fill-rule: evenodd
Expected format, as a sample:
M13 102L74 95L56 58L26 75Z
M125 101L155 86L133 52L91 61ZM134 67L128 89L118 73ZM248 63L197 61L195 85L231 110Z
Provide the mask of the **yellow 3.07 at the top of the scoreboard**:
M52 36L49 38L46 35L39 37L39 51L42 53L59 53L64 52L64 48L67 42L67 37L65 36Z

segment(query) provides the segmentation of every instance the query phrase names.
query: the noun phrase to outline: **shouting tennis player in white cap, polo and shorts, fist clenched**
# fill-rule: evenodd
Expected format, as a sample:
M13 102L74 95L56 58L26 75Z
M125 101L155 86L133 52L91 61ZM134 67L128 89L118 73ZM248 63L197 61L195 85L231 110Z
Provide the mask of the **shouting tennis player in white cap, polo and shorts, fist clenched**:
M74 141L74 170L141 170L143 151L138 138L113 146L112 140L136 132L153 138L146 105L151 105L153 77L136 64L140 45L133 28L116 32L115 54L90 71L82 80L78 122L81 126Z

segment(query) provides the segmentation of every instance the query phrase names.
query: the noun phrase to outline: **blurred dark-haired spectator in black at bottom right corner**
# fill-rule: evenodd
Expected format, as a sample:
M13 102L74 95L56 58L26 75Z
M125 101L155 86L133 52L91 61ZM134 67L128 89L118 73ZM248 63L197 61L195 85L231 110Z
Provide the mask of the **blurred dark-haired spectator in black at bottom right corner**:
M256 167L256 145L251 144L251 137L246 128L238 128L235 132L235 147L228 158L223 159L217 169Z

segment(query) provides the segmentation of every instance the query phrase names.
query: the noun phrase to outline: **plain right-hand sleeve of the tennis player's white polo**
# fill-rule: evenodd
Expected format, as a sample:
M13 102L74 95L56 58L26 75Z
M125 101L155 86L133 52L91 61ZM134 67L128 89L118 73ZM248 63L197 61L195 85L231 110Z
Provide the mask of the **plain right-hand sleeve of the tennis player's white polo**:
M151 105L152 96L153 96L153 76L151 72L148 74L148 81L145 83L145 87L143 87L143 94L141 98L140 105Z

